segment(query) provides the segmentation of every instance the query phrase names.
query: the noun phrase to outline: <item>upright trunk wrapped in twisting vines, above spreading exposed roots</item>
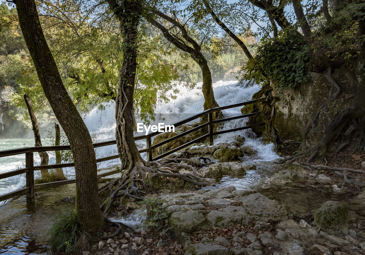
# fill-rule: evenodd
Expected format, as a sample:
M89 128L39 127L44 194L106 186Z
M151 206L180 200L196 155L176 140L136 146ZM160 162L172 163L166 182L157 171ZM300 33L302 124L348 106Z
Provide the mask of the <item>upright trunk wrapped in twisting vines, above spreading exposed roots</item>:
M115 138L122 166L123 168L128 166L131 170L135 165L144 162L134 142L133 132L133 94L142 3L139 0L121 1L120 5L115 0L108 0L108 3L120 21L124 45L123 64L120 68L118 93L115 100Z

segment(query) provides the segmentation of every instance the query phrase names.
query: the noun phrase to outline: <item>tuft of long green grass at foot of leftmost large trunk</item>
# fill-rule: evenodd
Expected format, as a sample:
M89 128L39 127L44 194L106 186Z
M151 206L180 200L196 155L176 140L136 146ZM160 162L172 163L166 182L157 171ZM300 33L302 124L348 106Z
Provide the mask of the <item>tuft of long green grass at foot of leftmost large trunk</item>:
M91 237L77 223L74 209L62 210L54 218L49 234L55 254L80 254L81 251L88 250L91 244Z

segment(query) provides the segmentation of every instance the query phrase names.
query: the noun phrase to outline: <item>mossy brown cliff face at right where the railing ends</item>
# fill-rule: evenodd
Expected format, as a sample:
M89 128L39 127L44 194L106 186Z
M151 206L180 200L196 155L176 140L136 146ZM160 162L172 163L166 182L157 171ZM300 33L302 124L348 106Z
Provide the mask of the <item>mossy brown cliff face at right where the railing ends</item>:
M253 99L268 96L269 102L261 102L256 106L245 106L242 114L252 113L257 110L271 110L275 106L275 115L270 122L270 114L261 117L250 117L249 124L265 121L267 124L261 129L253 130L259 136L263 135L266 141L273 141L273 129L277 136L284 139L297 140L303 144L316 144L322 138L323 132L329 123L333 122L337 114L347 106L350 106L359 91L364 87L362 76L347 68L338 68L333 73L334 79L341 87L338 98L324 107L319 118L313 125L318 109L328 99L331 84L323 75L313 73L310 79L295 88L279 90L273 83L270 87L262 88L254 94Z

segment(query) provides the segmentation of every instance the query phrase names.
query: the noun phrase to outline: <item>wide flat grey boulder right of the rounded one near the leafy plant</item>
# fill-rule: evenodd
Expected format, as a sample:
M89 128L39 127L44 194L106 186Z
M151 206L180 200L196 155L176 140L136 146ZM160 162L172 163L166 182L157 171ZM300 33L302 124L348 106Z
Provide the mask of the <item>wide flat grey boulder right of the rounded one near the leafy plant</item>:
M252 220L247 211L239 206L228 206L216 211L210 211L205 220L208 227L228 228L235 224L246 225Z

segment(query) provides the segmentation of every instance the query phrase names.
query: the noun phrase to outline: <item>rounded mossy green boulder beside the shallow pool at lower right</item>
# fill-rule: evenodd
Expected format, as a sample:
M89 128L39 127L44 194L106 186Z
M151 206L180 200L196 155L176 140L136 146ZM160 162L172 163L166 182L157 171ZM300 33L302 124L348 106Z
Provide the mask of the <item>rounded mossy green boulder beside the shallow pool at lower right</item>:
M341 230L355 217L356 214L351 211L349 205L338 201L327 201L314 213L314 223L323 229Z

